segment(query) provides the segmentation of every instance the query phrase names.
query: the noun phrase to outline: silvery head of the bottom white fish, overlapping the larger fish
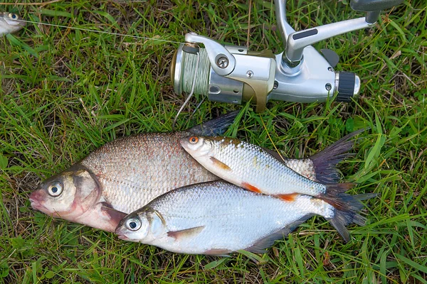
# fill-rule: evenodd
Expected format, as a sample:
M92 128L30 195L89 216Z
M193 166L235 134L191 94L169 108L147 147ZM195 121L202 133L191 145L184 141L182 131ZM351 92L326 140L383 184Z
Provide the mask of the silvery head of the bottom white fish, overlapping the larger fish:
M149 244L158 239L165 231L166 226L162 215L143 207L123 218L117 226L115 234L119 239L125 241Z

